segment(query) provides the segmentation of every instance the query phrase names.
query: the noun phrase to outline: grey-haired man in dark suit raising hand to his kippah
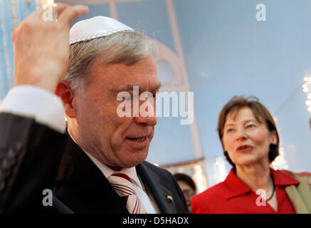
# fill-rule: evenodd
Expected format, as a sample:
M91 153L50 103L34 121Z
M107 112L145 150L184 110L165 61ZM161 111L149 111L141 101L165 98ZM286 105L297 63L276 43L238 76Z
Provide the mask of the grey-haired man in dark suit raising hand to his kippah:
M0 212L187 213L174 177L144 161L155 115L117 114L118 94L159 90L150 40L107 17L78 22L69 37L87 11L58 4L57 21L44 21L38 9L14 31Z

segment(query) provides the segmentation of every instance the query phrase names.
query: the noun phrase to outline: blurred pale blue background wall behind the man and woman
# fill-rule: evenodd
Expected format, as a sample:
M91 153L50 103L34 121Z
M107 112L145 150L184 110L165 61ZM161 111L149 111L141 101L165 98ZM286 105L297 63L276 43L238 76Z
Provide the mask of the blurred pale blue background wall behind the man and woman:
M78 20L110 16L154 38L162 91L194 92L194 123L158 118L149 162L190 175L198 192L221 182L231 167L216 131L218 113L233 95L255 95L280 133L272 166L311 172L310 0L61 2L89 6ZM11 31L37 5L53 3L0 0L0 100L14 85ZM256 20L258 3L266 21Z

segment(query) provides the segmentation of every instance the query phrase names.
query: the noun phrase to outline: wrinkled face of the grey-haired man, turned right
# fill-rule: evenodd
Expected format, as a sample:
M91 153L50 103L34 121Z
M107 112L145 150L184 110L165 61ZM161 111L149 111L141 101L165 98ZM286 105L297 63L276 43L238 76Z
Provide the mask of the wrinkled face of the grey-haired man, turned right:
M93 66L85 91L75 95L73 106L79 145L112 167L132 167L143 162L154 135L155 117L119 117L118 93L139 86L139 93L159 90L157 67L153 56L126 66L123 63ZM148 98L147 98L148 101ZM145 101L139 101L142 105ZM155 103L155 99L154 99ZM132 105L133 109L133 105Z

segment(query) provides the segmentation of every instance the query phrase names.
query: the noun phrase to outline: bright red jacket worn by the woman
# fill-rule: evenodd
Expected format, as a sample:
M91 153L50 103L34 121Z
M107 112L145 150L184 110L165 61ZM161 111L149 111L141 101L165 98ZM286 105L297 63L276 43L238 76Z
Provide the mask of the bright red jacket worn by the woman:
M278 201L278 212L268 203L258 206L256 195L246 184L244 184L231 169L223 182L210 187L192 200L192 213L194 214L292 214L295 209L285 193L288 185L298 185L300 182L285 175L278 170L270 169L275 183L275 193ZM260 202L264 202L260 199Z

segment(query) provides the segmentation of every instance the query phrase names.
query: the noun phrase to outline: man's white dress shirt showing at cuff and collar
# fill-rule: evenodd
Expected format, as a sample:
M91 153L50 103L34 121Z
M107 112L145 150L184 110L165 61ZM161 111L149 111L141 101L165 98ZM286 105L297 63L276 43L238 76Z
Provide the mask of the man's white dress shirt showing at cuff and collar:
M38 123L47 125L60 133L65 133L65 110L62 100L48 90L44 90L37 86L23 85L16 86L9 90L9 93L2 103L0 103L0 113L13 113L34 118ZM90 155L89 152L85 153L106 178L110 177L110 175L115 172ZM137 175L136 167L122 169L122 172L126 173L131 180L133 180L133 187L135 188L137 197L144 205L147 213L160 213L152 195L147 195L147 191ZM103 207L105 207L105 205L103 205Z

